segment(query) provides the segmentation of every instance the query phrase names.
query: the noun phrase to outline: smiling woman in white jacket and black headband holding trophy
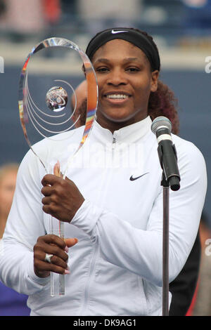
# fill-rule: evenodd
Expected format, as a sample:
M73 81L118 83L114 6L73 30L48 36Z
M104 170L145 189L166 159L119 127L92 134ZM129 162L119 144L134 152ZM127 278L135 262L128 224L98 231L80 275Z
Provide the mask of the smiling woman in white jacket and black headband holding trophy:
M96 35L87 55L98 79L97 120L69 179L44 176L32 152L23 159L1 278L30 295L32 315L161 315L162 170L149 116L151 109L160 114L160 92L153 95L160 85L158 49L136 29L114 28ZM46 162L60 159L63 171L68 146L81 132L77 128L62 150L44 140L37 151ZM173 142L181 188L170 192L170 281L196 239L206 192L202 154L178 136ZM65 222L65 235L73 238L46 235L49 214ZM67 274L65 296L52 300L50 272Z

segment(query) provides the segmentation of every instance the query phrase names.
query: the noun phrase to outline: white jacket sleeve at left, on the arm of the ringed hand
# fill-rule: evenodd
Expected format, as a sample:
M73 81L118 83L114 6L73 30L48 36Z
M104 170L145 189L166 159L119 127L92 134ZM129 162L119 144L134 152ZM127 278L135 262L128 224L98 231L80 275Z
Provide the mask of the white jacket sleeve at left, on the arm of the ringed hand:
M20 164L13 204L1 241L1 282L27 295L40 291L49 281L37 277L33 265L33 246L37 237L45 235L39 171L36 157L31 151L27 152Z

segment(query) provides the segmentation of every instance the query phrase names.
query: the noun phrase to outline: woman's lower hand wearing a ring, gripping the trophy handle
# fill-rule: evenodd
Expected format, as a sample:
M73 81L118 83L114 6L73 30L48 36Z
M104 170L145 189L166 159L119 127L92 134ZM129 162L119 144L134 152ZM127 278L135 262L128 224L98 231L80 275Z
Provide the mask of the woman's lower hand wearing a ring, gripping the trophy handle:
M38 277L48 277L50 272L70 274L68 270L68 248L78 242L77 238L61 239L56 235L44 235L34 245L34 272ZM45 260L53 254L51 263Z

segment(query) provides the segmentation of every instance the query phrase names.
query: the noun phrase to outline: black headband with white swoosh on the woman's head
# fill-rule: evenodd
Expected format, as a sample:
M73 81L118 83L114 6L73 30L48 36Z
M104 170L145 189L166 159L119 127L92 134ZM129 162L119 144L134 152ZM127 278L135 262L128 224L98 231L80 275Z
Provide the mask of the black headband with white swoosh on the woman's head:
M96 34L87 46L86 53L89 59L91 60L98 48L113 39L123 39L139 47L146 54L151 63L152 70L160 71L160 56L154 41L148 39L141 31L139 32L136 29L130 29L128 27L113 27L112 29L106 29Z

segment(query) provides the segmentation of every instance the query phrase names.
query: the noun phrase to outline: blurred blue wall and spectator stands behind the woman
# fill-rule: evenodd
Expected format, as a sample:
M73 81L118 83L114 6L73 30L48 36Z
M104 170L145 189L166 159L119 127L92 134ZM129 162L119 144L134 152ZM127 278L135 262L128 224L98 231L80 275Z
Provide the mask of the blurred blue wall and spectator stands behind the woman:
M178 98L179 135L195 143L207 163L204 211L210 218L210 0L0 0L0 165L20 162L29 149L18 117L18 81L32 47L48 37L64 37L85 51L96 32L111 26L138 27L153 35L161 79ZM36 70L43 86L47 60L40 58ZM65 77L65 70L61 73ZM77 82L77 74L72 79Z

